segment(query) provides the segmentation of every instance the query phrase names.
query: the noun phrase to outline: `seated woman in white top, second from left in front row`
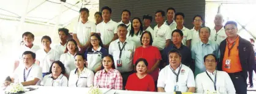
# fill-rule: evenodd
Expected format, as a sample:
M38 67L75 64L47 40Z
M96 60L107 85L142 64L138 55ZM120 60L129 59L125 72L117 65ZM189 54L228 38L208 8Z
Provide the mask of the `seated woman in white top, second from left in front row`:
M49 75L45 75L41 82L41 86L66 86L67 77L64 64L61 61L55 61L51 64Z

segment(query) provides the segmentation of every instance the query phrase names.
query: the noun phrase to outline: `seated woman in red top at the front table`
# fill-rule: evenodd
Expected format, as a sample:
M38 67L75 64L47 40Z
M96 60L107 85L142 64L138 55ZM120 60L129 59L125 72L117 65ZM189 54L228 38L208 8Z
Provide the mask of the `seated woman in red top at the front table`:
M126 90L154 92L155 84L151 75L146 73L148 62L140 58L135 62L137 73L129 76L126 82Z

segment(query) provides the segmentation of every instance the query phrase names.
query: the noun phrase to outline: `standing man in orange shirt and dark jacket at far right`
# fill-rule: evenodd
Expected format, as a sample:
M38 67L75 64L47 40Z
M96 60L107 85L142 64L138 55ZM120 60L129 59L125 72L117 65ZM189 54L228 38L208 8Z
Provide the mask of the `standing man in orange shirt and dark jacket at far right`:
M238 28L235 21L228 21L224 29L228 37L220 42L220 63L217 67L228 73L236 93L246 94L247 72L252 71L255 65L254 49L249 41L237 34Z

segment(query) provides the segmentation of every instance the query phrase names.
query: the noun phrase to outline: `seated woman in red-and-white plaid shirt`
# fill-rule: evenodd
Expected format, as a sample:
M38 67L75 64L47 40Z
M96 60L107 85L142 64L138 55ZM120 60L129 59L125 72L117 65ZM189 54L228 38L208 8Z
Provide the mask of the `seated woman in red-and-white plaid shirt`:
M104 69L99 70L94 76L94 86L122 90L122 76L121 73L115 69L113 56L104 56L102 65Z

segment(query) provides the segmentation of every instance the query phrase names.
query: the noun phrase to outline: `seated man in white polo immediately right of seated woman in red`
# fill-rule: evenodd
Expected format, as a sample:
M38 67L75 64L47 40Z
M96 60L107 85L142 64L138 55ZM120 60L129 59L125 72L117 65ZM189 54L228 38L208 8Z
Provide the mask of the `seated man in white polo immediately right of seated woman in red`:
M173 49L168 53L170 64L158 76L158 92L195 92L195 79L192 70L181 64L181 53Z

